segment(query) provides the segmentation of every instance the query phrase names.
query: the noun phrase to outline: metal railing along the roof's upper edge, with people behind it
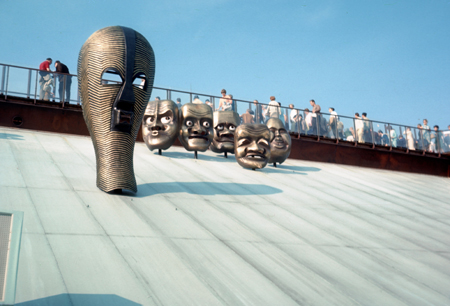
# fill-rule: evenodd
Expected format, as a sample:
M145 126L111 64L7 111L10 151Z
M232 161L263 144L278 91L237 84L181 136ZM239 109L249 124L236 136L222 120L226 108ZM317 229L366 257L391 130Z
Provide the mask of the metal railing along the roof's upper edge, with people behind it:
M115 82L108 80L108 82ZM39 69L0 64L0 95L8 95L37 100L48 100L65 104L80 105L78 79L73 74L43 72ZM73 99L71 93L76 93ZM316 113L307 109L275 107L265 103L254 103L214 95L153 87L151 100L161 99L179 101L180 105L199 99L208 103L213 110L231 109L251 122L265 123L270 117L280 118L286 130L298 138L307 137L317 141L333 141L337 144L351 144L372 149L397 150L413 154L440 156L450 153L450 130L432 130L369 119L334 116ZM198 102L198 101L196 101ZM226 107L225 107L226 106ZM275 111L274 111L275 110ZM246 112L249 116L242 116Z

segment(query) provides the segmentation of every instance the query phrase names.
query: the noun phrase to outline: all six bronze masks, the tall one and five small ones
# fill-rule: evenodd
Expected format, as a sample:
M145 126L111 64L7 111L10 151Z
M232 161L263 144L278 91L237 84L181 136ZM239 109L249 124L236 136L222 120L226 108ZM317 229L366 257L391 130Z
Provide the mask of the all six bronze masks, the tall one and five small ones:
M214 112L207 104L171 100L148 102L155 74L152 47L144 36L121 26L92 34L78 57L78 90L83 117L94 145L97 187L104 192L137 191L133 168L135 140L150 150L169 149L178 137L187 151L235 154L244 168L283 163L291 138L278 118L267 124L241 124L234 111ZM122 82L110 82L107 75ZM136 82L139 81L139 82Z

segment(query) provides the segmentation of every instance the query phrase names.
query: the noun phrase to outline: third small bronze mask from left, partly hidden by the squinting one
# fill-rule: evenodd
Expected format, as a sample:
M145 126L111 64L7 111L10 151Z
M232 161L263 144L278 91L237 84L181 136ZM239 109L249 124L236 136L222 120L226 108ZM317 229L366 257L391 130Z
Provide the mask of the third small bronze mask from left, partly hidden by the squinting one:
M240 123L239 114L233 111L214 112L214 138L211 151L234 153L234 132Z

